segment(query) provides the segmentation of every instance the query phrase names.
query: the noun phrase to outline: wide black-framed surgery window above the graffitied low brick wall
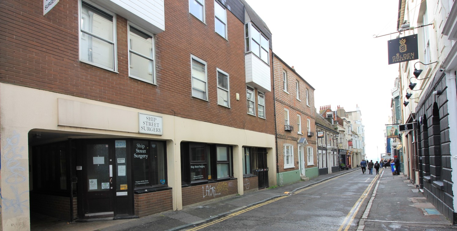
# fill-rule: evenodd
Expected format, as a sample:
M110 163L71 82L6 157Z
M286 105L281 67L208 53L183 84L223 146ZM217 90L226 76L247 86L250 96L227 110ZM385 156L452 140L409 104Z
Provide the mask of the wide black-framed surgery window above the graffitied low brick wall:
M222 144L181 143L183 183L205 183L233 177L232 148Z

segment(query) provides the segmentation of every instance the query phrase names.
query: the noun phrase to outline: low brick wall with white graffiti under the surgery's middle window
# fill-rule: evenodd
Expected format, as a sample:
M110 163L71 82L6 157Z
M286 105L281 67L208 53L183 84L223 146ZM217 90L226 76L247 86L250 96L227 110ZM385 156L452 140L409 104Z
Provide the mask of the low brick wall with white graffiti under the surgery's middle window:
M192 205L238 193L238 180L214 182L182 188L182 206Z

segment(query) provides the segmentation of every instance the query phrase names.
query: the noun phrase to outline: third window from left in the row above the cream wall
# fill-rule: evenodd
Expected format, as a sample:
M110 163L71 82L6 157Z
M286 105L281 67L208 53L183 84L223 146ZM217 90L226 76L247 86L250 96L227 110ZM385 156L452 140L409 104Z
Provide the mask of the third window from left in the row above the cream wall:
M191 56L192 65L192 96L207 100L207 70L206 62Z

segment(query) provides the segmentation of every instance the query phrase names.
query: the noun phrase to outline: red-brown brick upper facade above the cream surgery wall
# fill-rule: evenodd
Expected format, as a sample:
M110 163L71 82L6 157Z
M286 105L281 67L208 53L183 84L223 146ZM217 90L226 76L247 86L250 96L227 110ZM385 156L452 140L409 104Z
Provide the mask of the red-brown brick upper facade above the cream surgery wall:
M44 16L39 1L2 4L1 82L274 134L272 92L265 94L267 119L247 114L244 23L227 10L224 39L214 31L214 1L205 2L205 23L189 13L188 1L165 1L165 31L155 36L157 85L128 77L128 19L121 15L116 73L79 62L77 0L61 0ZM191 96L191 55L207 62L208 101ZM216 68L229 74L230 108L218 105Z

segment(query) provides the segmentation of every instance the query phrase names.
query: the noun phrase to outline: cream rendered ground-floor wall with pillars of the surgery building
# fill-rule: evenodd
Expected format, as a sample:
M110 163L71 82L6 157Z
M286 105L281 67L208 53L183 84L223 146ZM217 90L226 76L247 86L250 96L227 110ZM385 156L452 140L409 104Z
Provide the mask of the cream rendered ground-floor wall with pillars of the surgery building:
M80 110L79 114L77 114L78 110ZM163 135L138 133L138 112L162 116ZM100 118L104 119L100 120ZM58 123L71 126L62 126ZM0 169L2 195L0 218L3 230L30 229L27 134L31 129L166 140L168 181L169 186L173 188L174 210L182 209L181 141L233 145L234 177L239 179L243 177L241 147L244 145L265 147L271 172L269 183L274 185L276 182L275 137L272 134L153 113L8 83L0 83L0 124L3 167ZM238 191L239 194L243 194L242 180L238 181Z

